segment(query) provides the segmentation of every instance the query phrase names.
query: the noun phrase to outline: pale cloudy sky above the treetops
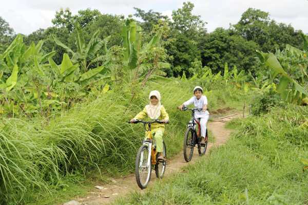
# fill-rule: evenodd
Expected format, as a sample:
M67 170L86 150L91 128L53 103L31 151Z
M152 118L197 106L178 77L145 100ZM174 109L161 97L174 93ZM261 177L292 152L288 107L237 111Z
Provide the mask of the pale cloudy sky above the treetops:
M181 8L180 0L5 0L0 7L0 16L15 33L30 34L40 28L52 26L55 11L69 8L73 14L83 9L98 9L108 14L134 14L133 7L152 9L171 17L172 10ZM208 32L217 27L229 28L236 24L248 8L269 12L276 22L291 24L296 30L308 33L308 0L191 0L193 14L201 15L207 22Z

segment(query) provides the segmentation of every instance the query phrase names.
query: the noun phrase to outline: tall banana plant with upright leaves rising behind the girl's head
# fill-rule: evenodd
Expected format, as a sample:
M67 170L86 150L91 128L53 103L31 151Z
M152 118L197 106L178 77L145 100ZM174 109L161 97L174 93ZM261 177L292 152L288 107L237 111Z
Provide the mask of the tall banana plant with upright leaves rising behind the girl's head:
M129 79L132 83L142 82L155 76L165 76L162 69L169 68L165 63L165 50L160 46L162 31L158 31L146 44L142 44L141 27L134 20L128 18L122 30L124 47L124 61L126 62L127 76L134 76Z

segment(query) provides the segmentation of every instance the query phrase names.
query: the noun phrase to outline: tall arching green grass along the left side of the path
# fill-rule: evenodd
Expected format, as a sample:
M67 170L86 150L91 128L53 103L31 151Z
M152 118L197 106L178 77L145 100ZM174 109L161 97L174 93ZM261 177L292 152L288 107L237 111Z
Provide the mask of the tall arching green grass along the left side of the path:
M144 130L142 125L130 125L127 121L148 103L152 89L161 92L162 104L170 116L171 123L166 126L164 136L168 156L178 153L190 115L176 107L192 96L194 86L179 80L152 82L140 88L132 100L129 90L112 89L49 119L3 119L0 203L35 201L62 188L63 179L71 175L84 179L93 172L101 175L131 172ZM222 93L222 90L206 93L211 107L228 104L232 99Z

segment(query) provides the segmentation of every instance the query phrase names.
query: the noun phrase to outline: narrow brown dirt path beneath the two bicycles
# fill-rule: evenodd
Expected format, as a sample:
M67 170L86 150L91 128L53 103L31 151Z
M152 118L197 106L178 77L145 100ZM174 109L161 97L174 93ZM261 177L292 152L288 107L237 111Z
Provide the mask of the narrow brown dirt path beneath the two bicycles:
M208 128L210 132L215 136L215 142L208 143L206 153L208 153L208 150L213 146L219 146L227 141L230 135L230 130L224 127L225 122L231 120L232 118L236 118L238 116L239 115L234 115L218 121L213 121L208 123ZM195 148L194 156L192 157L192 160L189 162L189 164L195 163L198 159L200 159L200 157L198 155L197 148ZM180 152L178 155L168 160L165 176L181 172L182 167L187 164L188 163L185 162L184 160L183 153ZM155 172L152 172L151 180L148 186L150 187L151 185L153 185L155 181L156 181ZM93 188L93 190L89 192L89 195L87 197L78 198L76 200L81 202L81 204L83 205L108 204L114 201L119 196L125 196L125 194L128 194L131 191L140 191L140 192L145 191L145 190L140 190L140 188L138 187L134 174L130 174L128 176L115 179L112 181L112 183L99 184L99 185L104 190Z

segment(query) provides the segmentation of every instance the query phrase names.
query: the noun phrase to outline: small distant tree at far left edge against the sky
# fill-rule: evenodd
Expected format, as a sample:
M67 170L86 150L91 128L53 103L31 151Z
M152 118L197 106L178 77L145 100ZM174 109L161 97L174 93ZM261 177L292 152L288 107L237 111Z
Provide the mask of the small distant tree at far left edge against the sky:
M0 52L3 52L11 43L14 35L14 30L10 25L0 16Z

